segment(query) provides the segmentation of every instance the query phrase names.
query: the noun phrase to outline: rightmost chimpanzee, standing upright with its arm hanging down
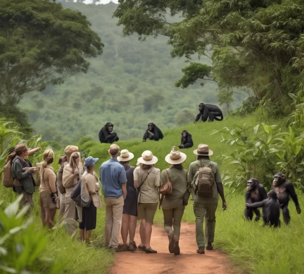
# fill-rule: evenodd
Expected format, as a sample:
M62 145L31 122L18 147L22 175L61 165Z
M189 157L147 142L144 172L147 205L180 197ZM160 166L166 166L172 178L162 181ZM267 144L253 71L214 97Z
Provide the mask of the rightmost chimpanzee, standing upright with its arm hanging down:
M284 174L277 173L274 175L272 190L274 190L278 195L279 203L281 204L284 222L285 224L289 224L290 222L290 215L288 210L289 196L295 203L297 214L301 213L301 208L293 184L285 179Z

